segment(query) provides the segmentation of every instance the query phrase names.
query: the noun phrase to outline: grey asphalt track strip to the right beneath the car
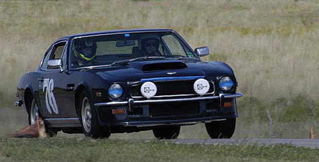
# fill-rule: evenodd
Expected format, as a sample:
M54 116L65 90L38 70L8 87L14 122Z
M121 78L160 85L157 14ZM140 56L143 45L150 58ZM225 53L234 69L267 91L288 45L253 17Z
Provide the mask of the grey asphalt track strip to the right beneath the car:
M295 147L319 148L319 139L174 139L175 144L203 145L292 145Z

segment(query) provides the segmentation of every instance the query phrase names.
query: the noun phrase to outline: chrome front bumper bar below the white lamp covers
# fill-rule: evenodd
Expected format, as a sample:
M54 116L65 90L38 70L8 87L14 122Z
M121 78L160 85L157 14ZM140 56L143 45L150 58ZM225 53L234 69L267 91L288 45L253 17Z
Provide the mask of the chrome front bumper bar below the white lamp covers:
M152 104L152 103L166 103L166 102L187 102L192 100L207 100L207 99L220 99L220 104L223 98L238 98L243 96L242 93L224 94L220 93L218 96L199 96L190 98L168 98L168 99L146 99L146 100L134 100L132 98L127 101L113 101L108 103L96 103L94 106L128 106L128 111L131 110L134 104Z

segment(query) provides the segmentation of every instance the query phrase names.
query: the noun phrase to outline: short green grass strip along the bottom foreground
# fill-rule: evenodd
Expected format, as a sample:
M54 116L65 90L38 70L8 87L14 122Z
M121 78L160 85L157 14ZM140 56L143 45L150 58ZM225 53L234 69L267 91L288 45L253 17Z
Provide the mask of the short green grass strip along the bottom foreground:
M0 138L1 161L318 161L290 145L200 145L90 138ZM138 156L136 156L138 155Z

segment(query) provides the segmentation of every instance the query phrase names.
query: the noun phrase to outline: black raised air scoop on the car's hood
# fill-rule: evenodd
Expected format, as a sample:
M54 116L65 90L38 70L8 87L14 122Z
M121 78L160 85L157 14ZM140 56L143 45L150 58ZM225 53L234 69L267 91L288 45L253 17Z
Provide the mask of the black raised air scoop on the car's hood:
M184 69L187 65L183 62L164 62L146 64L143 66L142 71L154 71L154 70L171 70L171 69Z

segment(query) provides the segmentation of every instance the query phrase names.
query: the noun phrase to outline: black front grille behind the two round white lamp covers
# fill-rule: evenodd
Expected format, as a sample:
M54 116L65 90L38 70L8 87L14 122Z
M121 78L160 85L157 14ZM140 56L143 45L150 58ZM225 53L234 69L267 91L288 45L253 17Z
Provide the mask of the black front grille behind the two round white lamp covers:
M183 95L183 94L197 94L193 85L196 80L174 80L166 82L154 82L157 87L155 96L166 96L166 95ZM210 89L208 93L214 92L214 84L209 82ZM140 86L134 85L131 87L132 97L143 97L140 92Z

